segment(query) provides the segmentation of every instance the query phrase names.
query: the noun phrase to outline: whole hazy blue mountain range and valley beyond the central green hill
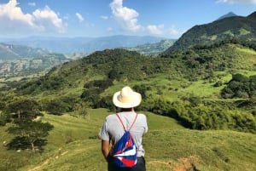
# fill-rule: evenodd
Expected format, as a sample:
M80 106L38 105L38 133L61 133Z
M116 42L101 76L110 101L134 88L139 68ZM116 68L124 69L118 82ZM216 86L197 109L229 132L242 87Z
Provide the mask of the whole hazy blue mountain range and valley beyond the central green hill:
M102 38L28 38L13 43L0 43L0 75L24 75L45 71L70 60L82 58L90 53L81 53L82 48L101 50L121 47L141 54L157 55L169 48L175 40L160 40L160 37L115 36ZM7 42L12 42L7 41ZM90 42L87 42L90 41ZM87 42L87 44L85 43ZM17 43L17 44L16 44ZM135 47L131 45L140 44ZM22 44L22 45L20 45ZM24 45L27 44L27 45ZM29 45L29 46L28 46ZM32 48L34 47L34 48ZM41 47L41 48L38 48ZM56 48L58 49L56 49ZM63 50L64 49L64 50ZM68 50L70 49L70 51ZM73 49L73 50L71 50ZM78 50L78 51L76 51ZM61 51L61 54L53 53ZM74 51L73 53L70 53ZM64 52L69 52L65 54Z

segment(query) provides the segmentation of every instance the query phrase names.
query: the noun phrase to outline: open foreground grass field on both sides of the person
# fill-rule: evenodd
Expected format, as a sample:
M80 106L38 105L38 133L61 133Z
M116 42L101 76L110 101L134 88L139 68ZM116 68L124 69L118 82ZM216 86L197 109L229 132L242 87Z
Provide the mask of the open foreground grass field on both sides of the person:
M107 170L97 133L109 113L104 109L90 110L84 118L45 114L43 121L55 128L49 134L44 152L7 151L1 145L0 170ZM143 145L148 171L256 170L255 134L189 130L172 118L145 114L149 129L143 137ZM8 142L11 139L9 134L4 128L0 131L1 140Z

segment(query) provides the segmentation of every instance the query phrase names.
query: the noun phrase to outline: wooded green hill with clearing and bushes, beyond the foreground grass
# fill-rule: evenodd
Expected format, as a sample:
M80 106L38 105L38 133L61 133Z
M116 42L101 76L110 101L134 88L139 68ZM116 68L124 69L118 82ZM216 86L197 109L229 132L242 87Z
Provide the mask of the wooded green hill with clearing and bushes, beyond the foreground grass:
M56 66L44 77L24 81L15 94L32 96L44 110L55 113L74 111L77 105L84 106L84 101L91 108L113 110L111 95L128 84L143 94L142 109L176 118L186 128L255 133L255 58L255 50L236 43L159 57L124 49L104 50ZM227 89L237 73L252 81Z

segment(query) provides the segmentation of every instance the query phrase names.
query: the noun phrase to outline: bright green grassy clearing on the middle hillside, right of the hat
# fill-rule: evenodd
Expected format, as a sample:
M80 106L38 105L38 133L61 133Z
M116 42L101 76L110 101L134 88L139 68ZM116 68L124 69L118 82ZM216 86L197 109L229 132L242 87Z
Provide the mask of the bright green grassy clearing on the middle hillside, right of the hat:
M223 83L230 81L231 75L222 77ZM137 84L132 82L129 85ZM147 81L143 81L143 84L151 87L151 90L148 90L148 95L151 96L164 96L167 100L179 100L181 97L188 97L189 94L201 98L211 98L218 99L220 91L224 88L222 87L214 88L214 83L206 83L203 80L197 82L189 82L186 80L169 80L166 75L160 75L158 77L151 78ZM122 84L123 85L123 84ZM119 86L121 88L121 86ZM119 88L115 88L118 90ZM113 88L112 88L113 89Z

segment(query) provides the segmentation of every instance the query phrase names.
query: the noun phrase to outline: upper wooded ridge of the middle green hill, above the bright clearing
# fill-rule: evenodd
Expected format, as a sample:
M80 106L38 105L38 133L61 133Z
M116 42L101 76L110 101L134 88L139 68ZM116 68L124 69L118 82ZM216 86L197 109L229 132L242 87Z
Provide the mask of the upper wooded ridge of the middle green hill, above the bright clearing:
M81 91L84 83L93 80L113 79L117 83L136 83L150 82L150 79L159 76L170 81L204 80L205 83L215 83L236 72L255 73L255 58L253 48L237 43L197 47L154 58L124 49L107 49L55 66L44 77L23 85L20 92L41 94L47 91L55 94L60 89ZM49 86L49 83L56 84Z

